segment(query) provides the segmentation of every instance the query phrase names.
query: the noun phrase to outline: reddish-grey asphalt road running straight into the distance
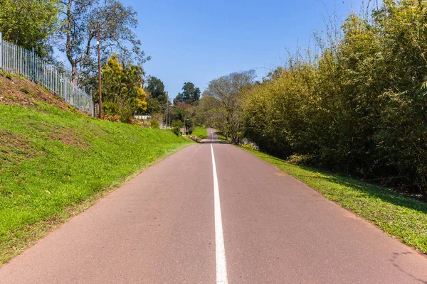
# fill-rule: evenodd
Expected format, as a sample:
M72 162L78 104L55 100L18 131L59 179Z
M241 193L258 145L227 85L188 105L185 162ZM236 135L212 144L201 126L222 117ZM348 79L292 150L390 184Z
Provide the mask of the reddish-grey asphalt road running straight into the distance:
M0 283L427 283L426 256L209 133L0 268Z

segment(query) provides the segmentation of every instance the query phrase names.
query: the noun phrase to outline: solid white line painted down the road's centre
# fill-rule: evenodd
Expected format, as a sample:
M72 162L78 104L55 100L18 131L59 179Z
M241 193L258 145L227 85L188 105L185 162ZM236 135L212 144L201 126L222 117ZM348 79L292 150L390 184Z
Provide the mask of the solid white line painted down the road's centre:
M221 202L219 200L218 176L214 147L211 144L212 168L214 170L214 211L215 211L215 252L216 252L216 284L228 284L226 249L224 248L224 234L221 219Z

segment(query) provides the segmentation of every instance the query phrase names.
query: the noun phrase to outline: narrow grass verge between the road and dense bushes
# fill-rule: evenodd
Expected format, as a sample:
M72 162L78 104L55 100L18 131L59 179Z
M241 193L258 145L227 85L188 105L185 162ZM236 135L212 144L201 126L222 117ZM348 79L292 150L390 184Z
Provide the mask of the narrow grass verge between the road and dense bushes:
M405 244L427 253L427 204L352 178L286 163L246 148Z

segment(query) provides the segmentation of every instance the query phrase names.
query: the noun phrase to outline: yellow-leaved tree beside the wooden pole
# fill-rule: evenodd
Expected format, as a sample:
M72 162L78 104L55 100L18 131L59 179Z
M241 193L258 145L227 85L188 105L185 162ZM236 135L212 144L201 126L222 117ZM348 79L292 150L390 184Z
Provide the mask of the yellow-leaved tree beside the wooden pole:
M132 114L147 109L142 67L120 63L115 55L102 67L102 94L112 109L117 109L121 121L130 121Z

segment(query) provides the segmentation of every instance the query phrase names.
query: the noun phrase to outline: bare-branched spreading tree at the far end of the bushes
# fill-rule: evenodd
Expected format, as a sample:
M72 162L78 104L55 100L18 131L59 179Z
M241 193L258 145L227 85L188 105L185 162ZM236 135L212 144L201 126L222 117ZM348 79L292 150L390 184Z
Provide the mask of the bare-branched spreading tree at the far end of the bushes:
M240 143L243 136L241 97L244 89L250 87L255 77L254 70L234 72L209 82L203 93L203 97L212 98L208 101L210 107L214 109L220 121L223 121L221 131L225 132L226 138L230 136L231 141L236 144Z

